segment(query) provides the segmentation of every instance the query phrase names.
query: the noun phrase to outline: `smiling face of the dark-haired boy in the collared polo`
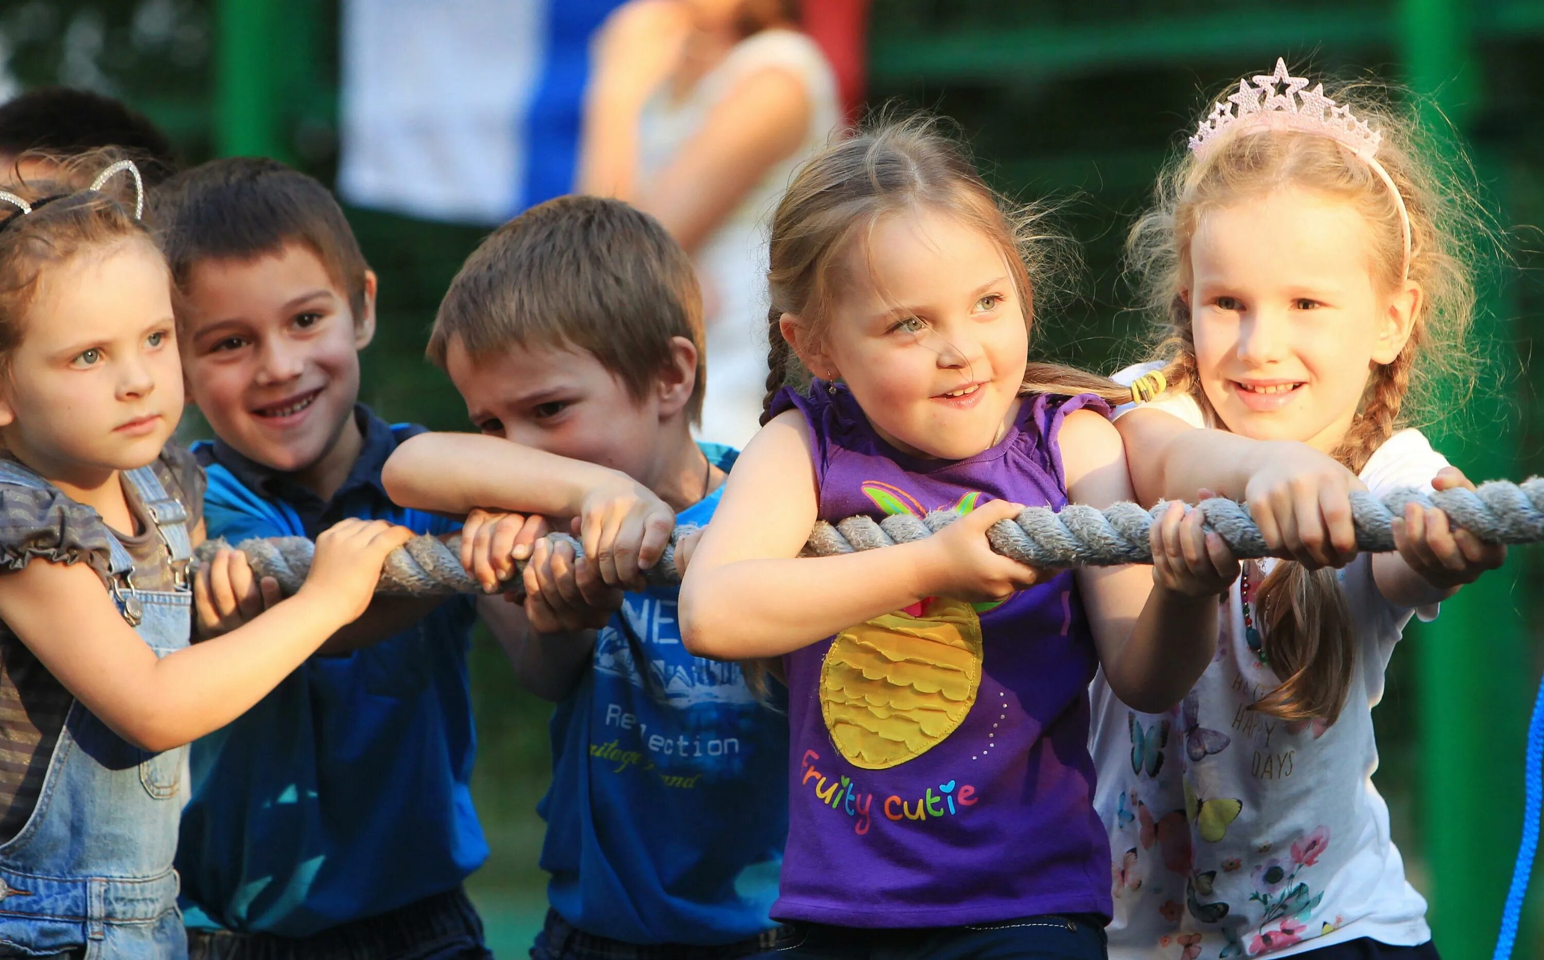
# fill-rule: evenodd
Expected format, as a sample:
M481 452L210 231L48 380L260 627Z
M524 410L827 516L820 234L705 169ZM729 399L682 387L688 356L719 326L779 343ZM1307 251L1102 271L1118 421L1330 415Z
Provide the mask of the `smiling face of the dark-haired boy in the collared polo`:
M347 295L301 244L193 265L182 296L191 400L225 443L276 471L303 471L337 443L360 392Z

